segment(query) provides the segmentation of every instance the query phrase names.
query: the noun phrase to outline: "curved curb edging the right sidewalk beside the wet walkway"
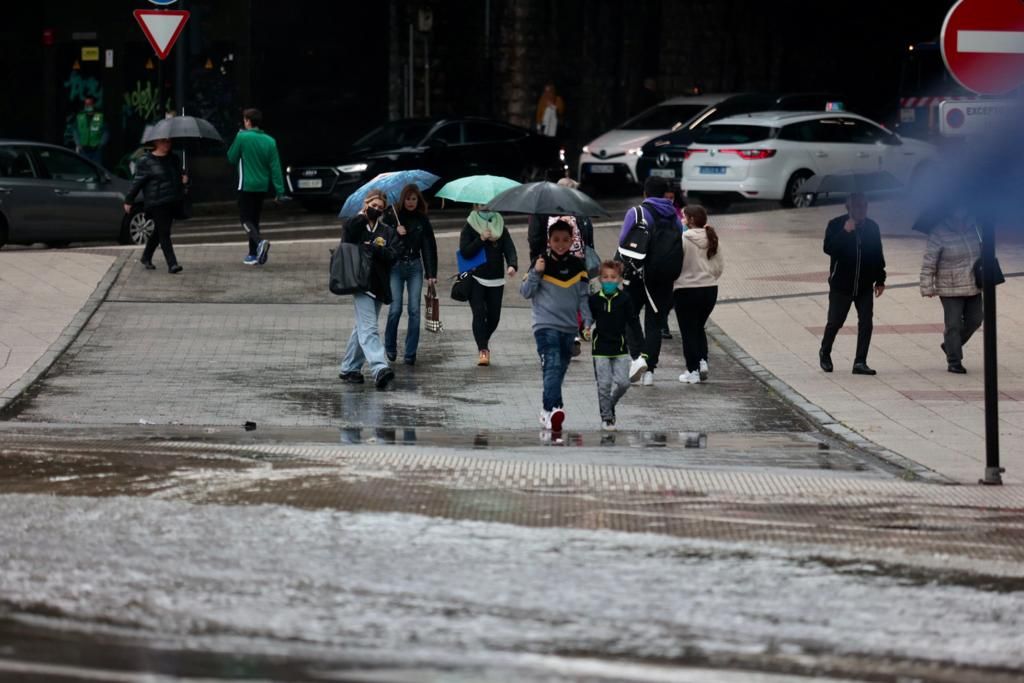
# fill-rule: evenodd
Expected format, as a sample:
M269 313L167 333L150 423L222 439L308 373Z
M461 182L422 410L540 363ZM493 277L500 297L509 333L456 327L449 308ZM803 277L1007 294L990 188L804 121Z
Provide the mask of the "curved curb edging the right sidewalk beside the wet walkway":
M929 469L921 463L901 456L895 451L890 451L885 446L879 445L874 441L865 438L860 433L850 429L827 412L807 400L803 394L799 393L796 389L769 372L767 368L758 362L754 356L743 350L739 344L733 341L731 337L725 334L720 327L711 321L708 321L708 334L715 340L715 343L718 344L734 360L749 370L756 378L758 378L758 380L761 381L762 384L780 395L785 401L797 409L798 412L800 412L808 421L821 431L856 449L859 449L860 451L866 452L879 460L903 470L910 478L922 479L931 483L959 485L958 482L946 477L945 475L939 474L935 470Z

